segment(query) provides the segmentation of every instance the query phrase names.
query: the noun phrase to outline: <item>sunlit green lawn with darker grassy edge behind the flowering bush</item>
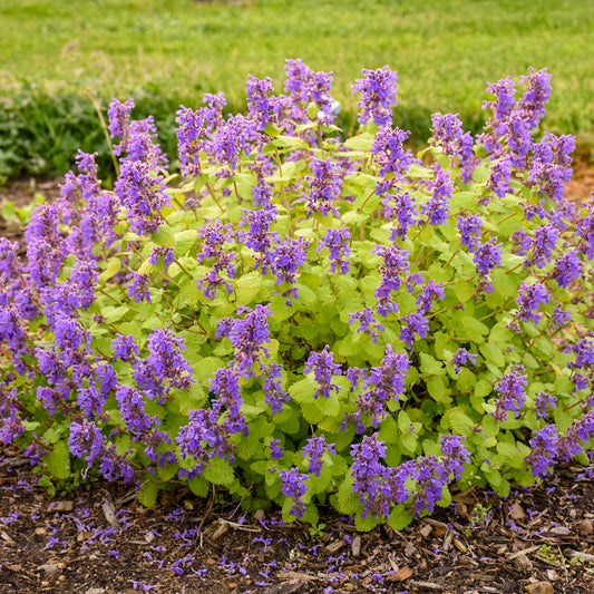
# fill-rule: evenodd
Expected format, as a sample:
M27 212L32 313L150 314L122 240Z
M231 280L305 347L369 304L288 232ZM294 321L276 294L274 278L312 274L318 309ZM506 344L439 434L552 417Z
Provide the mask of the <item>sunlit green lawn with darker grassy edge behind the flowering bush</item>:
M594 144L592 0L0 0L0 176L59 174L81 146L106 145L87 97L133 96L175 155L175 109L223 90L245 109L249 74L282 90L285 58L334 72L356 120L361 68L399 75L395 121L418 144L430 114L458 111L476 130L487 81L547 67L546 127ZM107 160L105 159L105 163Z

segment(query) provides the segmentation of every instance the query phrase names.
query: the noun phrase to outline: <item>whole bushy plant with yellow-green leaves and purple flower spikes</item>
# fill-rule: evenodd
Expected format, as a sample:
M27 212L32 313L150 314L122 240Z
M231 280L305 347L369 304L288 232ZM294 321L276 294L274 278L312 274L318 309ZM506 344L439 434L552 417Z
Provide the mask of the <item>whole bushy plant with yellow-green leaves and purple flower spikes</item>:
M179 108L181 182L114 100L114 191L80 153L27 261L0 240L2 441L148 506L175 479L361 529L587 460L594 207L564 201L573 138L537 139L546 71L490 85L477 138L435 114L416 157L388 67L348 139L331 74L286 75L247 116Z

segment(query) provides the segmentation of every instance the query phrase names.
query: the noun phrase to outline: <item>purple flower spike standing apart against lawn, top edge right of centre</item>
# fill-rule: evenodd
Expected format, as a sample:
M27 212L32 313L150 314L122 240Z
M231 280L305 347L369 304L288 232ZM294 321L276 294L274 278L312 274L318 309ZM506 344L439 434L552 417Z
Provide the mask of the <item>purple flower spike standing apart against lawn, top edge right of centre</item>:
M352 94L361 94L358 106L359 123L367 124L370 119L378 126L391 124L392 107L397 105L398 77L388 66L377 70L362 70L364 78L358 78L352 86Z

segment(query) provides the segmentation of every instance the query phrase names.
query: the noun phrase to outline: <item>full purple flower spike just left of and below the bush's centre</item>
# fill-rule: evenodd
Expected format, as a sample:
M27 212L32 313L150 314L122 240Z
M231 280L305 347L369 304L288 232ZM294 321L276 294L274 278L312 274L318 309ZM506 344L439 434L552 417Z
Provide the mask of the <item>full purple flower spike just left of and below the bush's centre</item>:
M263 347L270 341L267 319L272 315L270 305L257 304L255 310L240 305L237 313L245 313L243 320L223 318L215 338L227 337L235 348L235 366L244 378L253 377L253 366L262 356L270 357Z

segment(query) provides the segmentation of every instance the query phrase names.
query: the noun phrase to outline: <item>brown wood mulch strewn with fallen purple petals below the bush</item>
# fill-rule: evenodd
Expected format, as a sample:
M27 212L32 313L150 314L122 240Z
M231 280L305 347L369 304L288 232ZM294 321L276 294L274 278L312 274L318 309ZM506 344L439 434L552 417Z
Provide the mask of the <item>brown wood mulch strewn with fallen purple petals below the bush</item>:
M50 499L16 452L0 476L2 594L594 592L594 467L508 498L457 494L405 530L364 534L334 515L318 530L282 525L182 486L153 509L121 484Z

